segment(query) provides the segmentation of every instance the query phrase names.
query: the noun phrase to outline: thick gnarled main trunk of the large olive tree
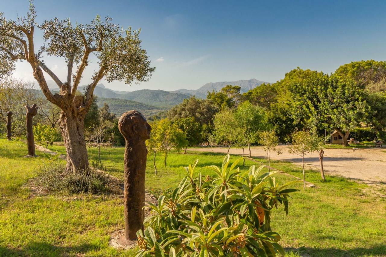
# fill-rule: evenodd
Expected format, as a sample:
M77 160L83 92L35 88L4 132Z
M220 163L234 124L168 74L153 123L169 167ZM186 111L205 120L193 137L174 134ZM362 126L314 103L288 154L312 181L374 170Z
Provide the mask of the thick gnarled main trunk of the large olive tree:
M74 117L71 112L62 112L59 119L64 147L67 152L67 172L76 173L88 169L88 156L84 136L84 118Z

